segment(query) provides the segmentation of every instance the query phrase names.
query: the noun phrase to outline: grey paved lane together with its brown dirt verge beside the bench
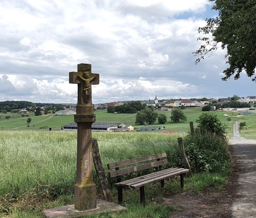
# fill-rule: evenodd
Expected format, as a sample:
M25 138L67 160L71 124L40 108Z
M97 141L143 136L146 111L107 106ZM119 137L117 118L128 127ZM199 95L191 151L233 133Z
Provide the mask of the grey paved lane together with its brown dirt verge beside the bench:
M165 196L163 204L176 207L169 218L256 218L256 141L240 137L234 122L229 142L233 176L226 187Z

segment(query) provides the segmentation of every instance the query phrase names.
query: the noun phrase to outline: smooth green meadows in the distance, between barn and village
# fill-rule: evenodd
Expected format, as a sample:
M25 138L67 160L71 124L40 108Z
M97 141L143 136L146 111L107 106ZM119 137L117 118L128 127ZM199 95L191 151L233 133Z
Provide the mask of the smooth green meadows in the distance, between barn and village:
M181 133L187 132L190 130L189 122L194 122L194 127L197 126L196 119L202 113L201 108L191 107L182 110L187 116L186 122L171 122L171 112L170 111L157 111L158 113L163 113L167 116L167 122L165 124L159 124L156 121L152 126L164 126L165 130L169 131L178 131ZM96 114L96 122L123 122L126 125L132 125L133 127L140 127L140 125L135 125L136 114L114 114L107 113L107 110L98 110L94 112ZM223 115L227 112L216 111L218 118L221 122L224 122L228 125L227 132L232 135L232 123L233 121L243 119L243 118L234 118L231 117L231 121L227 121L227 117ZM64 125L74 122L73 115L66 116L53 116L50 119L50 115L47 116L34 116L34 113L30 113L29 116L32 118L30 126L27 127L27 117L21 117L19 114L10 114L11 118L9 120L5 119L6 114L0 113L0 130L4 129L13 129L19 127L18 130L60 130ZM149 125L150 126L150 125Z

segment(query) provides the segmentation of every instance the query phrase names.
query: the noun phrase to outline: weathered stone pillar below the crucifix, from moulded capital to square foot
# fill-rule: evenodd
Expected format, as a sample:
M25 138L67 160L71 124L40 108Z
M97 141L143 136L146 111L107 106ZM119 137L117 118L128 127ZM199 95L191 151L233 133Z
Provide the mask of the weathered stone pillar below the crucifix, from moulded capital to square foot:
M96 208L91 142L91 124L95 122L95 114L76 114L75 122L77 122L75 209L82 211Z

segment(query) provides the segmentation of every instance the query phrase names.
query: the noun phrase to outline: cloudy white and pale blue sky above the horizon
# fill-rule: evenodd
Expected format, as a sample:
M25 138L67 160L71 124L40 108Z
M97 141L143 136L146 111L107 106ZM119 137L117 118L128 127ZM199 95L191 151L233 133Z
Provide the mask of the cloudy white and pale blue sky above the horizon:
M195 65L208 0L1 0L0 101L76 103L69 72L100 74L93 103L255 96L242 75L222 81L225 51Z

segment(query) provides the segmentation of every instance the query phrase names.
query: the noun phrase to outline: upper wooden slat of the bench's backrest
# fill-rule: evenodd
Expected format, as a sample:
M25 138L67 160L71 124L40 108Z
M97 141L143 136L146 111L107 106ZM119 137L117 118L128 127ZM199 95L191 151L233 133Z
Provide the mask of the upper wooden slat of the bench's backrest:
M139 158L133 158L130 160L109 163L109 164L107 164L107 168L110 170L110 169L114 169L117 167L124 167L127 165L145 162L145 161L151 161L151 160L155 160L155 159L159 159L159 158L163 158L163 157L167 157L166 153L160 153L160 154L150 155L150 156L146 156L146 157L139 157Z

